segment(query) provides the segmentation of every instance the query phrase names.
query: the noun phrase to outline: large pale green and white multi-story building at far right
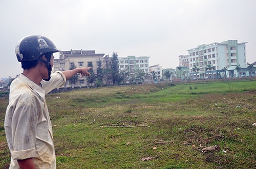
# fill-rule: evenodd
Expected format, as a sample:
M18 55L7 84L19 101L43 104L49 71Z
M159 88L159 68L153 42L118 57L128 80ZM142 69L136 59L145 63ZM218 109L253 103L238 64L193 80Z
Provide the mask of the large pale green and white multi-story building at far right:
M223 74L223 68L246 65L246 43L228 40L221 43L203 44L187 50L190 77L194 79L218 78L218 75ZM193 71L195 68L198 71Z

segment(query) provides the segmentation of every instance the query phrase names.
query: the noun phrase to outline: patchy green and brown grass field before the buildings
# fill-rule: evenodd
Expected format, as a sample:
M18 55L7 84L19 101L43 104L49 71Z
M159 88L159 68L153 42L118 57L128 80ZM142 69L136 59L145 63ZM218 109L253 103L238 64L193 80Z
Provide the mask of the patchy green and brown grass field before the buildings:
M1 96L0 166L8 168ZM47 104L57 168L256 166L255 80L80 89L48 94Z

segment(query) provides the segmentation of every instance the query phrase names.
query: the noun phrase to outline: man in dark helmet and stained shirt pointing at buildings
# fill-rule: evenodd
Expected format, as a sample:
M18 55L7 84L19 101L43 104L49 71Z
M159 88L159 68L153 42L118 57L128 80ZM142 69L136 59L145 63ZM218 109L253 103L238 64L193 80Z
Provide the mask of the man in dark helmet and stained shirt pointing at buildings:
M89 76L89 68L51 74L53 53L59 50L44 36L28 36L16 48L23 73L12 81L5 132L11 152L10 168L56 168L52 125L45 94L76 73Z

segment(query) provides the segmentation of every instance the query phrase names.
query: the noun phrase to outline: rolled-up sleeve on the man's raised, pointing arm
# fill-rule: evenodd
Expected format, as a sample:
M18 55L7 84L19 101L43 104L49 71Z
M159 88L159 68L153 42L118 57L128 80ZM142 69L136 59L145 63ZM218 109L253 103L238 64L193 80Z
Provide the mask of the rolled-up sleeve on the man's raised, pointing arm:
M46 94L56 88L60 88L61 86L65 85L65 83L66 77L61 71L56 71L55 73L52 73L51 79L49 81L41 81L42 88L45 89Z

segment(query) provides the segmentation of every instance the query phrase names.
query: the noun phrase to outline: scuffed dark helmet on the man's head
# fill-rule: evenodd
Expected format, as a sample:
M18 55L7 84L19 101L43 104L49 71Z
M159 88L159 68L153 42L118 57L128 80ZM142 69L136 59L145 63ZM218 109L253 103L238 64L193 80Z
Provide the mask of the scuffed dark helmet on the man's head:
M34 61L44 53L58 51L60 50L50 39L40 35L27 36L21 39L15 47L18 62Z

